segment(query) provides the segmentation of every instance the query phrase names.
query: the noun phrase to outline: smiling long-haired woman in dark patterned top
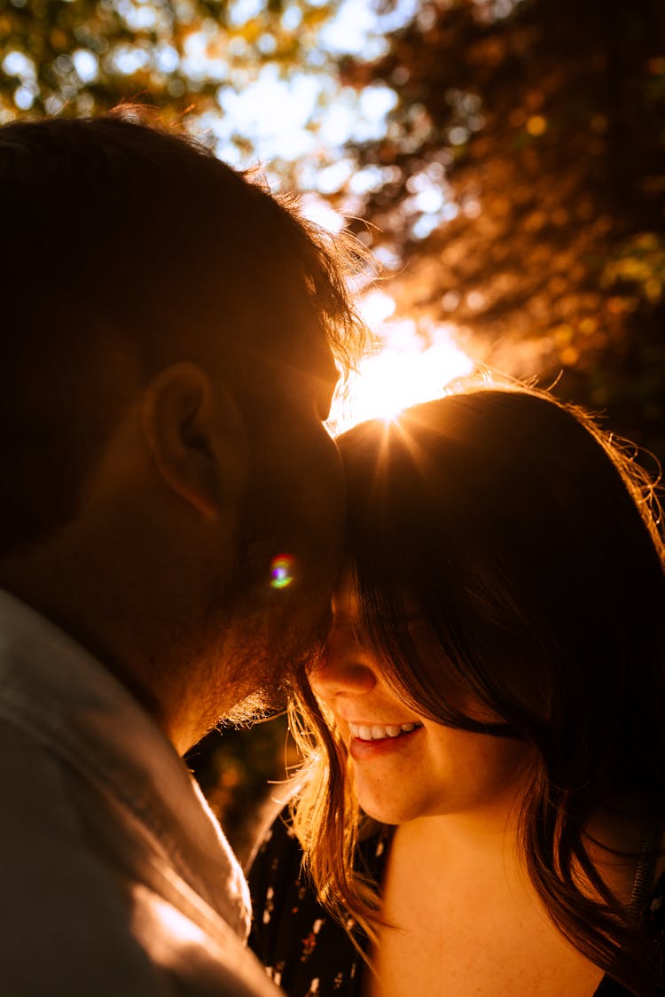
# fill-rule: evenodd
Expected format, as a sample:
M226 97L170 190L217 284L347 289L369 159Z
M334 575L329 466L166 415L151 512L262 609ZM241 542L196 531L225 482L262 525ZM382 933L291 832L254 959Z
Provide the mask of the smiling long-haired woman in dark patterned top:
M290 997L662 994L653 490L530 389L339 444L348 563L299 689L294 830L250 875L255 951Z

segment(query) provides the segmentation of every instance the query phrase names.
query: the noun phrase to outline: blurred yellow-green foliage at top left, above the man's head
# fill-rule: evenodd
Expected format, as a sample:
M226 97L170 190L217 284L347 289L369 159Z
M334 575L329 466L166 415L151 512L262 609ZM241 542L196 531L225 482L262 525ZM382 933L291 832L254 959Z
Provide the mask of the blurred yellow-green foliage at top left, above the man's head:
M283 9L282 0L246 14L227 0L0 0L0 114L88 115L129 99L166 120L216 112L220 86L267 62L294 65L330 13L303 4L289 28Z

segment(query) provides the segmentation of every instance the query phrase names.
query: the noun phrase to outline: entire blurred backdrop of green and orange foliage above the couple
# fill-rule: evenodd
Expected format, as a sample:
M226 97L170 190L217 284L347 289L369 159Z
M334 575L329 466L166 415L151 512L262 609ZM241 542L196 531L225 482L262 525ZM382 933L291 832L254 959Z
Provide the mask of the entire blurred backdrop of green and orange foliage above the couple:
M490 366L560 375L665 460L662 0L374 0L375 42L402 17L369 60L376 44L322 44L344 6L0 0L0 120L137 99L251 162L260 126L228 95L266 67L275 86L337 78L303 114L313 134L349 94L391 95L369 138L321 131L309 166L295 151L274 175L356 219L426 339L451 323Z

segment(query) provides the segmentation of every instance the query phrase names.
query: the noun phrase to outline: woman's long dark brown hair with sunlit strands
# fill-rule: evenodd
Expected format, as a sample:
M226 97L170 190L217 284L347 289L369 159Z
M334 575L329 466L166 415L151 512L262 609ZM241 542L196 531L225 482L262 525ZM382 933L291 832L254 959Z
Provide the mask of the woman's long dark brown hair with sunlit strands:
M665 819L665 557L653 483L584 412L530 388L452 394L338 442L363 639L386 681L422 716L533 746L520 845L550 919L634 993L661 992L639 919L604 883L585 833L600 809L645 828ZM406 599L436 641L435 662L404 625ZM456 709L451 688L499 714L503 729ZM322 900L371 934L379 891L357 863L367 819L306 679L293 723L307 865Z

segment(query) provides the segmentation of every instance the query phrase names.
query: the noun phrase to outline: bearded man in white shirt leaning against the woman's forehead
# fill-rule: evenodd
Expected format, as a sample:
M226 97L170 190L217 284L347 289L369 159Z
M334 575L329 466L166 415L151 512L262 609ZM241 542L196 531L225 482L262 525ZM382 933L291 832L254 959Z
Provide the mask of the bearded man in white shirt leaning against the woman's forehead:
M325 626L342 262L136 113L0 129L0 189L2 993L272 993L178 756Z

